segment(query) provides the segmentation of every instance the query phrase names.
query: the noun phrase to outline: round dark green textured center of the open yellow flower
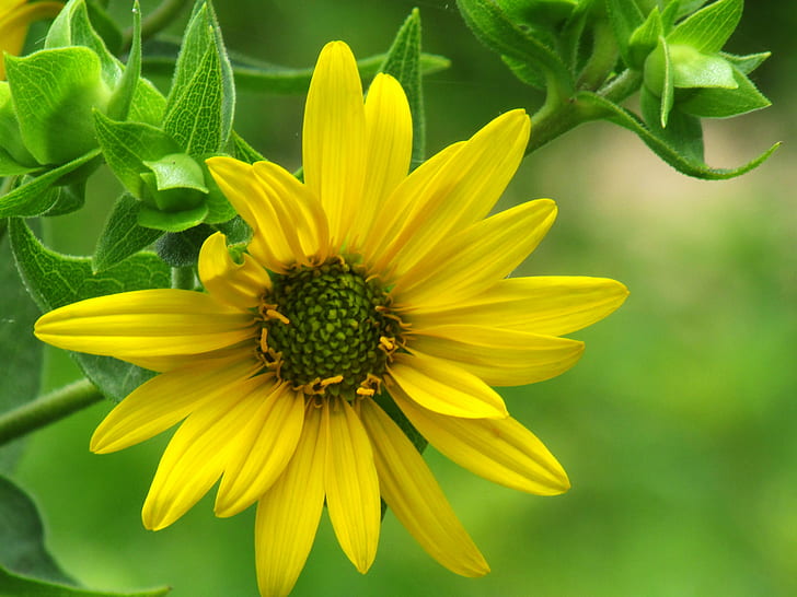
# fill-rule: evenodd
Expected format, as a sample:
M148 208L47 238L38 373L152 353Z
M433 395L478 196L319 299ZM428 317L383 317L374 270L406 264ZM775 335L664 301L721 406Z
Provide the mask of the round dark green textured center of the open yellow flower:
M261 306L263 358L305 394L372 395L401 337L390 302L343 258L297 266L273 278Z

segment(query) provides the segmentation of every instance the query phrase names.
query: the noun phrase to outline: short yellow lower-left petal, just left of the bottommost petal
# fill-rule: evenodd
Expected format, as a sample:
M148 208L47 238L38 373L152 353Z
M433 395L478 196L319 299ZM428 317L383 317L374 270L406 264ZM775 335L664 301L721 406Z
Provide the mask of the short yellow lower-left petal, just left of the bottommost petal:
M265 376L261 376L265 377ZM232 516L255 503L282 473L304 423L304 398L284 385L253 387L261 407L240 432L216 496L216 515Z

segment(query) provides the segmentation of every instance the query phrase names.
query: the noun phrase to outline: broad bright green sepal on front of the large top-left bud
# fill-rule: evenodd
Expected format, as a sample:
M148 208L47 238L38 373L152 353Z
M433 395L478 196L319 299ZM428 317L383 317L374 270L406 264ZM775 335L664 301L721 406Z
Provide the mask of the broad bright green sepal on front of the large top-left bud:
M5 69L22 139L38 163L63 164L96 147L91 113L111 93L96 54L69 47L8 56Z

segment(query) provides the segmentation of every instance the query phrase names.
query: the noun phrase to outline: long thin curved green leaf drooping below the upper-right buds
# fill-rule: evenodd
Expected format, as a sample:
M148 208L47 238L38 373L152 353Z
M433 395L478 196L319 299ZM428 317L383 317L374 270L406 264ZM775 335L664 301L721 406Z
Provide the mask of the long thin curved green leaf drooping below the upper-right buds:
M673 168L688 176L703 178L706 180L724 180L740 176L750 172L754 167L761 165L772 153L781 145L775 143L764 153L752 160L751 162L736 168L713 168L702 161L692 160L686 155L679 153L674 148L670 147L665 140L654 134L644 122L627 109L617 106L605 97L591 92L579 92L575 98L585 107L597 109L603 113L603 116L612 122L620 125L635 132L645 144L647 144L659 157L670 164Z

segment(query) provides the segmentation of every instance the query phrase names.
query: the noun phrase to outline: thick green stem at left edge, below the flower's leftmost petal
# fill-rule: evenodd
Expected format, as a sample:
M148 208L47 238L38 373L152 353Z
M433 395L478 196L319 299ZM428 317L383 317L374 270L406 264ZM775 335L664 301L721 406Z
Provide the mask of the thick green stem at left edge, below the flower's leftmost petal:
M0 445L63 419L103 399L88 379L74 382L0 415Z

